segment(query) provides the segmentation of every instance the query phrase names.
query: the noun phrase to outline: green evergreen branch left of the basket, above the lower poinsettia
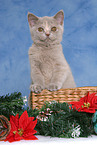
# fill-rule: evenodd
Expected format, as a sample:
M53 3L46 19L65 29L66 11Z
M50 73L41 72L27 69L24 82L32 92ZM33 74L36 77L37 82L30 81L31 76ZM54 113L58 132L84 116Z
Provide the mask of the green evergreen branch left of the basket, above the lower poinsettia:
M23 97L20 92L14 92L5 96L0 96L0 115L9 119L9 115L15 115L24 111Z

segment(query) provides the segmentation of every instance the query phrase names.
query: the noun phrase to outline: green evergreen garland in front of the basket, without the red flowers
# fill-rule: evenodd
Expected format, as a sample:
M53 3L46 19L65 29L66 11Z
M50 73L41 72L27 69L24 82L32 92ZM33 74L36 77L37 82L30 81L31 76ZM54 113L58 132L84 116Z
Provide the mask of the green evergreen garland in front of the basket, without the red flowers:
M0 97L0 115L21 115L25 108L21 93ZM29 117L37 118L37 134L52 137L88 137L94 134L93 114L77 112L67 103L45 102L41 109L27 108Z

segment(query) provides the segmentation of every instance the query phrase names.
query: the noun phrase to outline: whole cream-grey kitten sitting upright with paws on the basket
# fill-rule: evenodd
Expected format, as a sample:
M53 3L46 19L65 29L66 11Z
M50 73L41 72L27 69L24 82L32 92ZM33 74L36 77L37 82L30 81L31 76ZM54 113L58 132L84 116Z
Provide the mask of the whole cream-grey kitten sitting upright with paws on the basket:
M72 72L62 52L63 20L63 10L53 17L37 17L28 13L33 40L29 48L30 89L35 93L43 89L55 91L75 87Z

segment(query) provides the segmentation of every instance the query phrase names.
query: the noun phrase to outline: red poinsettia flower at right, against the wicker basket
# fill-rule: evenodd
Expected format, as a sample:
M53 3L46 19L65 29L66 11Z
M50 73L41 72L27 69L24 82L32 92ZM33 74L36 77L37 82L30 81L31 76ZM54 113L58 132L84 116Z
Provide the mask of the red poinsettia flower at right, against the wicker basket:
M96 93L88 93L85 97L81 98L78 102L70 102L72 108L76 108L78 112L95 113L97 110L97 96Z

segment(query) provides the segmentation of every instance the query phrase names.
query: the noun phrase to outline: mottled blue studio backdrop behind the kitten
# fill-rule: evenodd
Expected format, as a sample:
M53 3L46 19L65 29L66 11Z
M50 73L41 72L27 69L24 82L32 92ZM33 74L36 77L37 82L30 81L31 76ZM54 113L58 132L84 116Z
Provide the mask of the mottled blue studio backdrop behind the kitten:
M27 13L65 13L63 52L77 86L97 85L97 0L0 0L0 95L29 95Z

